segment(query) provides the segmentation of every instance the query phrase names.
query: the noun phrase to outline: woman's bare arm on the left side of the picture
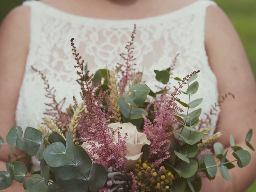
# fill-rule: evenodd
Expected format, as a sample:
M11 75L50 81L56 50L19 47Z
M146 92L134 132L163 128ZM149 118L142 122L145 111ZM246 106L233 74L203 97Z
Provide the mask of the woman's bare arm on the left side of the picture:
M28 7L15 8L6 16L0 26L0 136L4 140L10 128L16 125L15 111L30 35L29 12ZM21 154L22 152L16 150L16 153ZM2 146L0 148L0 170L6 170L8 154L11 154L10 148ZM22 184L17 183L4 191L14 190L16 192L24 191Z

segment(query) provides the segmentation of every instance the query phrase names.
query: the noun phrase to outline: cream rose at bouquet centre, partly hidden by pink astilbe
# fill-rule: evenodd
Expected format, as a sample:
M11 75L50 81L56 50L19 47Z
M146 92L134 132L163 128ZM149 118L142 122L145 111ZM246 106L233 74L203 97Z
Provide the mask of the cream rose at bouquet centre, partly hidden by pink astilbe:
M146 134L138 132L136 126L134 126L131 123L110 123L108 126L111 127L113 130L120 128L118 131L120 132L122 138L124 138L124 136L127 133L126 167L129 170L130 168L132 168L132 166L136 164L138 159L141 158L142 156L141 149L146 144L150 145L150 140L147 139ZM114 135L114 143L117 143L117 142L118 142L118 134L116 133ZM85 150L86 148L87 149L91 148L91 146L86 142L82 144L82 147ZM98 155L96 155L95 158L98 158Z

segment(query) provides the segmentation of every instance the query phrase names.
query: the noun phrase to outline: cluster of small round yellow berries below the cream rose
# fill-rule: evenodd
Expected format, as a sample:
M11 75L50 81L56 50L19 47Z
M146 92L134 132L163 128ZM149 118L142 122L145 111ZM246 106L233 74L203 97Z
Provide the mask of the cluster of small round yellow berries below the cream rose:
M136 192L167 192L174 180L172 172L166 170L164 166L156 170L153 164L149 165L147 161L142 162L141 159L138 160L132 171L138 185Z

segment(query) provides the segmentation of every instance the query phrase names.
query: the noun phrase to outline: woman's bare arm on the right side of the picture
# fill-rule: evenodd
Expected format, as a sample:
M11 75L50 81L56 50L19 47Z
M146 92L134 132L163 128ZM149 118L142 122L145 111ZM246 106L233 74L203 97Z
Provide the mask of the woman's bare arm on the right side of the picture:
M206 51L209 63L216 74L220 96L232 92L235 99L226 99L221 105L218 130L224 132L220 142L229 146L232 134L237 145L250 151L252 160L245 168L231 169L231 181L221 178L204 180L203 190L242 192L256 178L256 152L252 152L244 143L246 133L253 129L251 144L256 148L256 84L244 48L236 31L224 12L210 7L206 17ZM235 160L232 149L228 160Z

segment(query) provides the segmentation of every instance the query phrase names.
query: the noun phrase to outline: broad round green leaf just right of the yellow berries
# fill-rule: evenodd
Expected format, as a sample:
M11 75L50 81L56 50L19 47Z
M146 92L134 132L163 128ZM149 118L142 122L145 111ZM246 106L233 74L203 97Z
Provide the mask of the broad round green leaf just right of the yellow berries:
M183 178L190 178L196 174L198 169L198 163L196 160L190 159L190 163L181 161L175 168L175 171Z

